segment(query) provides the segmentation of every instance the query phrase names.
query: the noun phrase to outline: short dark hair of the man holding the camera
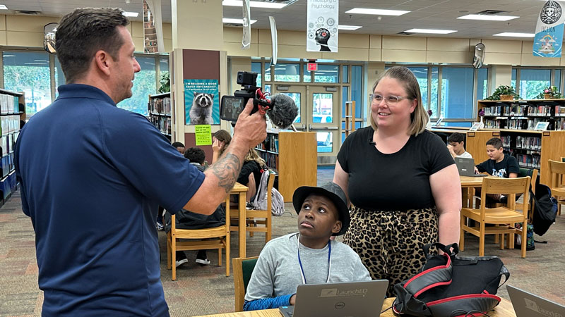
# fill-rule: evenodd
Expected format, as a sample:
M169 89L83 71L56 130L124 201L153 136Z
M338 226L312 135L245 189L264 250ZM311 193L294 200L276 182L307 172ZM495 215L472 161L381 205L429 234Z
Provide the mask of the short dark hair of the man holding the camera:
M97 51L106 51L117 61L124 44L117 27L128 24L119 8L78 8L61 18L55 49L66 82L84 75Z

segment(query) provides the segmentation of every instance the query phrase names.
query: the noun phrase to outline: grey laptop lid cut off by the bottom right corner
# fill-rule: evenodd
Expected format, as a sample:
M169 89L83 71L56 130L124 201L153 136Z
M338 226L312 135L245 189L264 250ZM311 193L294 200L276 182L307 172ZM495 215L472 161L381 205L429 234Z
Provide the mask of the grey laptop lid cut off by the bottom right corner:
M565 306L530 294L513 286L506 286L516 317L565 316Z

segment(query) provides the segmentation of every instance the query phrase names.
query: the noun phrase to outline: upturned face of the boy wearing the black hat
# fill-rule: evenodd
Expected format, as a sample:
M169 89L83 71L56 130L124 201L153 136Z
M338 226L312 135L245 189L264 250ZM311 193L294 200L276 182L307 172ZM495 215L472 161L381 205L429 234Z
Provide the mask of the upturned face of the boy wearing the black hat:
M300 235L329 239L333 233L340 230L338 209L331 199L317 194L311 194L304 199L302 209L298 213Z

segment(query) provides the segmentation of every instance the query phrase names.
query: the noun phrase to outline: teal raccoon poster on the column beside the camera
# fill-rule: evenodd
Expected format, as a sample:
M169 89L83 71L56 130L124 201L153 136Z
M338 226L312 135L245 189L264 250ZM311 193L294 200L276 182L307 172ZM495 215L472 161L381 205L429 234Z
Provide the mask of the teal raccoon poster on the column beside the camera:
M218 80L184 80L184 121L187 125L219 125Z

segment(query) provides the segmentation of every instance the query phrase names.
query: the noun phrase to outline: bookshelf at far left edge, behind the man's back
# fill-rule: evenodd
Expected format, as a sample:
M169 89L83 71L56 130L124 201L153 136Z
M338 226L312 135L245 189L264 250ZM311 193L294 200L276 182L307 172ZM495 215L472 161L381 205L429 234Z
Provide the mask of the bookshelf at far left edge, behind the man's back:
M20 121L25 122L24 94L0 89L0 206L18 188L13 149L20 135Z

